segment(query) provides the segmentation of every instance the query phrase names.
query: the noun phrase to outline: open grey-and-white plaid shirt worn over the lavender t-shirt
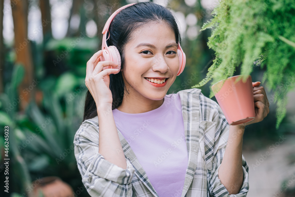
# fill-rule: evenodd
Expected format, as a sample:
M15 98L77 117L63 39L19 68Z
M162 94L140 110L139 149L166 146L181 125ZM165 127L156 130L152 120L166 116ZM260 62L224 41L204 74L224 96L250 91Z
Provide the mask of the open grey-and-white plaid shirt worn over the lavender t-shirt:
M181 197L246 196L248 165L242 156L243 184L238 194L229 195L218 178L219 166L229 136L229 124L217 102L201 89L177 92L181 98L185 140L189 158ZM75 134L74 146L82 182L92 197L158 196L126 139L117 129L127 162L123 169L99 154L98 117L83 121Z

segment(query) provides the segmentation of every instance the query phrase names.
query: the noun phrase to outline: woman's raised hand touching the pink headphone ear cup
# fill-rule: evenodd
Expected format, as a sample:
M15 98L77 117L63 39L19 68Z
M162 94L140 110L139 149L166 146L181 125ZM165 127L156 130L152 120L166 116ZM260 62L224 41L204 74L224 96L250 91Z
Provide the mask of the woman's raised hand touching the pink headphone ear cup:
M86 64L85 85L89 89L96 107L110 104L112 106L112 92L109 89L110 78L109 74L115 74L118 69L105 69L104 66L116 67L118 64L113 61L100 61L102 50L94 53Z

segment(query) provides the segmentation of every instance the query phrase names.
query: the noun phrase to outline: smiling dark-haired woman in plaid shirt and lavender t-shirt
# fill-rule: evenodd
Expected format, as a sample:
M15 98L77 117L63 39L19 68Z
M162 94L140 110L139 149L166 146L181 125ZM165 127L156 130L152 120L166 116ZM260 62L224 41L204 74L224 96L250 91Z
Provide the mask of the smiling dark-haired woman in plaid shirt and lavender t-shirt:
M102 51L87 62L89 91L74 139L89 194L246 196L243 133L269 113L260 82L253 83L255 119L229 126L200 89L166 95L179 71L181 43L168 9L152 2L122 9L107 41L119 51L121 70L103 69L118 64L100 61Z

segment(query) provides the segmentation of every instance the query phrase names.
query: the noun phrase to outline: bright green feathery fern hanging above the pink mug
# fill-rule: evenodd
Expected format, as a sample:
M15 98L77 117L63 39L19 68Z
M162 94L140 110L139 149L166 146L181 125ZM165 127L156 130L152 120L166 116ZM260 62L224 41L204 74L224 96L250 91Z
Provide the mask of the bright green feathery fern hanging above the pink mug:
M227 79L237 66L241 75L248 75L254 66L266 65L262 83L274 92L278 129L286 115L286 95L295 86L295 2L223 0L212 14L201 31L213 29L207 45L216 57L206 78L191 88Z

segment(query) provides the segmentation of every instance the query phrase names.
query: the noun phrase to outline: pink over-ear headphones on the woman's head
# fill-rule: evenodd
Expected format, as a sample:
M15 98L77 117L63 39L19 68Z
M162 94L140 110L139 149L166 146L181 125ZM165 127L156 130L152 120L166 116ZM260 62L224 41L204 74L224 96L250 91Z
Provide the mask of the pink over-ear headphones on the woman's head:
M133 3L136 4L136 3ZM106 40L109 39L109 37L106 39L106 33L109 31L109 26L112 22L112 20L114 19L114 17L116 16L116 14L118 14L122 9L131 6L133 4L127 4L119 9L117 9L110 17L109 19L106 21L106 24L104 25L104 29L102 30L102 34L103 34L103 38L102 38L102 56L100 56L100 61L114 61L115 63L118 64L117 67L114 67L114 69L121 69L121 56L120 53L117 49L117 47L115 46L107 46L106 44ZM177 76L180 75L184 69L185 66L185 62L186 62L186 56L185 53L183 52L179 42L178 42L178 48L177 48L177 53L178 53L178 57L179 57L179 69L177 72ZM112 68L112 66L105 66L103 68L104 69L110 69ZM117 73L119 73L119 71ZM117 74L116 73L116 74Z

